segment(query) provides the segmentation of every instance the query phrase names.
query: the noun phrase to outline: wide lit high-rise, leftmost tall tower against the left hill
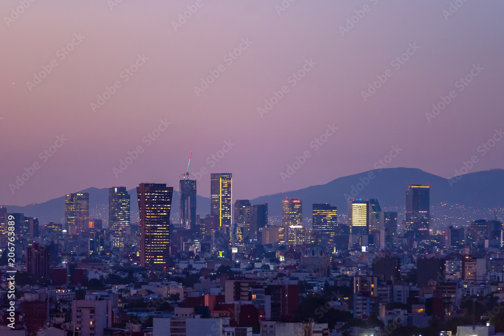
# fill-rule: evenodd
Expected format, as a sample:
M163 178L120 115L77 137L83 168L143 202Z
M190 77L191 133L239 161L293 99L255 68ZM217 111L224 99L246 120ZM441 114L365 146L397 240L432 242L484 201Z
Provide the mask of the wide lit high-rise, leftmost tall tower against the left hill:
M65 195L65 226L75 225L80 233L89 224L89 193L73 193Z

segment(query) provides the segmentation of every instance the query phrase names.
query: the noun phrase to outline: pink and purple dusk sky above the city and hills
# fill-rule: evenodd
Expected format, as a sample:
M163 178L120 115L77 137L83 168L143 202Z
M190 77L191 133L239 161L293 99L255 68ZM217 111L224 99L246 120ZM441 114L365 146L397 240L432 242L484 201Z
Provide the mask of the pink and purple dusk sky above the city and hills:
M504 166L503 2L283 4L2 1L0 204L142 182L178 190L191 152L190 173L208 172L198 194L229 172L234 199L372 170L392 147L387 167L445 178L472 156L469 172Z

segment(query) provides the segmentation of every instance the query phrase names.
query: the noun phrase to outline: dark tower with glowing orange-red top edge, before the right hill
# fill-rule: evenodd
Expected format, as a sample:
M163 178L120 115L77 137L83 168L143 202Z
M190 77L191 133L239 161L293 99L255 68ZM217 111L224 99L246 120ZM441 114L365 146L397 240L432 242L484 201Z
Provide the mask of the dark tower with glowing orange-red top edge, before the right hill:
M406 232L405 236L417 240L429 236L430 188L422 185L410 185L406 190Z

